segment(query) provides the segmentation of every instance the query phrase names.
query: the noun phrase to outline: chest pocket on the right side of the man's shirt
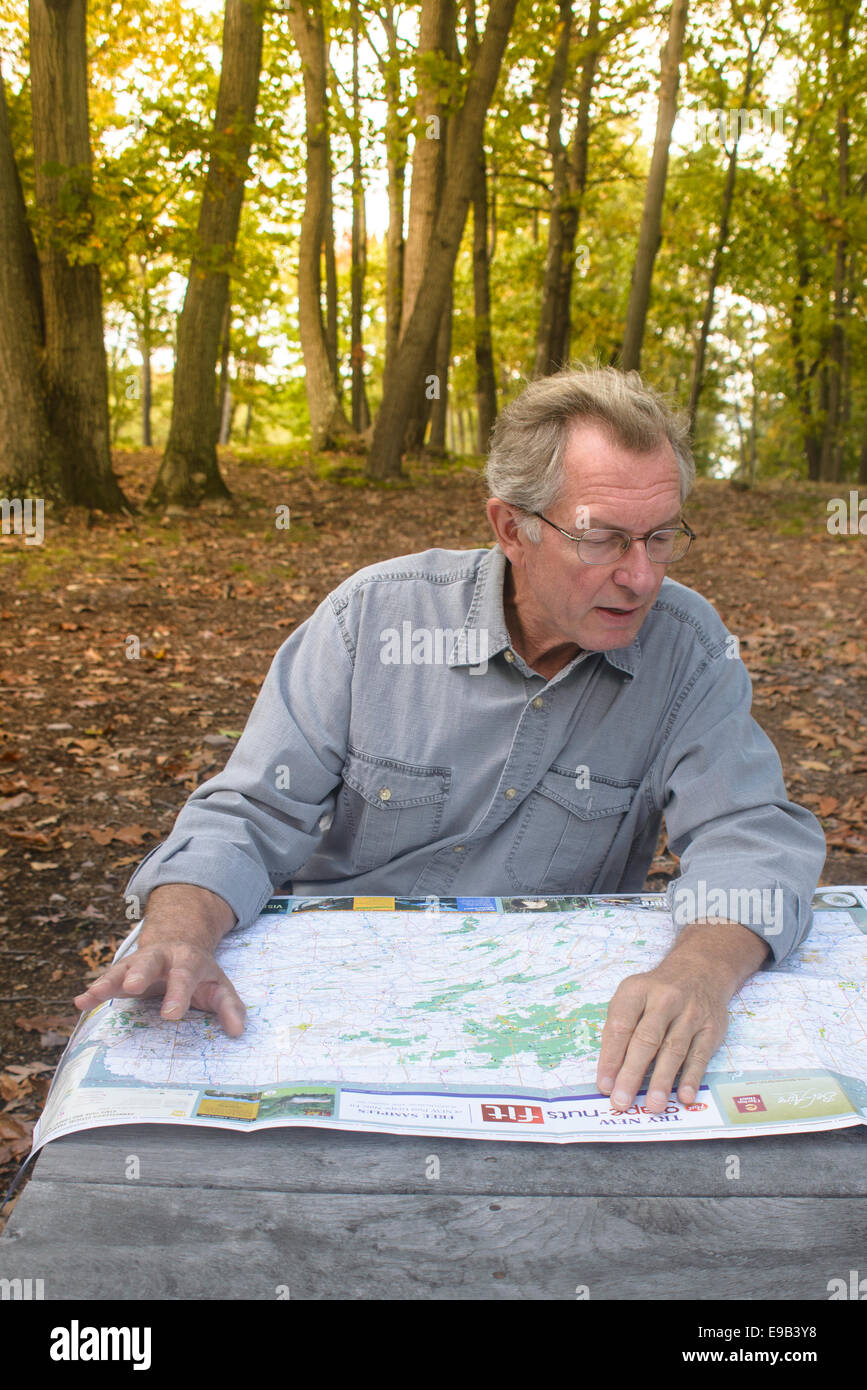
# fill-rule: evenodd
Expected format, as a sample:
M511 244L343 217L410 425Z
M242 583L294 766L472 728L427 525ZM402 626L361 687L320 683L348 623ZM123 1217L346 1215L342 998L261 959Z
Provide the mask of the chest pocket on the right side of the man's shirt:
M506 873L518 892L589 892L636 787L552 769L518 812Z

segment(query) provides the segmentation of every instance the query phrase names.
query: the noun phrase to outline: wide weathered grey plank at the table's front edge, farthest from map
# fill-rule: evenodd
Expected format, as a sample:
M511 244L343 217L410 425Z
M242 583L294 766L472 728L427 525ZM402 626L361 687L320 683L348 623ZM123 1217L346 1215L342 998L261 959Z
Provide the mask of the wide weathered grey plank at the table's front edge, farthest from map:
M454 1197L42 1182L0 1277L49 1300L827 1300L863 1266L850 1198Z

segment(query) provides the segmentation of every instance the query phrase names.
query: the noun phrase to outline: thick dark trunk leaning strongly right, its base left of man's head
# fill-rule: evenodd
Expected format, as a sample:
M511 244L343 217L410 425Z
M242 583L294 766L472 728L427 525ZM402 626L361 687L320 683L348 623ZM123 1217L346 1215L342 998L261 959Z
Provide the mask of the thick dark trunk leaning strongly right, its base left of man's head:
M456 121L454 157L446 171L434 236L415 307L402 335L399 354L374 430L368 473L374 478L400 477L404 430L425 360L449 296L472 185L488 106L500 72L517 0L490 0L485 36L472 64L470 83Z

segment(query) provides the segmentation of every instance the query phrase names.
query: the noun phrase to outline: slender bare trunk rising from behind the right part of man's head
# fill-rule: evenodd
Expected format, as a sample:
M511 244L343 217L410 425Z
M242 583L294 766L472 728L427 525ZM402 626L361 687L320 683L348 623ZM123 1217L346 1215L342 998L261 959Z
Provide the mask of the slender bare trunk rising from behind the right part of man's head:
M656 261L656 253L660 243L663 199L666 196L666 175L668 172L668 146L671 143L671 129L677 115L681 56L684 51L684 33L686 29L686 4L688 0L672 0L671 17L668 21L668 38L663 49L656 138L653 140L653 156L650 160L650 172L647 175L647 186L645 190L645 210L638 236L635 265L632 268L629 307L627 309L627 324L620 352L620 366L622 371L638 371L641 367L642 342L645 338L645 324L647 321L647 306L650 303L650 284L653 281L653 264Z

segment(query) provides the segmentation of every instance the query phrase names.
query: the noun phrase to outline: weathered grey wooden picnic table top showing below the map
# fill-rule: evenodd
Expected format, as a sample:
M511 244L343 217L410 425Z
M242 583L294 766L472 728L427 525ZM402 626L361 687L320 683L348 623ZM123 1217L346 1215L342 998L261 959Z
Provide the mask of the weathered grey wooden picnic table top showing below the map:
M828 1300L867 1275L866 1158L864 1126L563 1145L113 1126L38 1156L0 1279L46 1300Z

